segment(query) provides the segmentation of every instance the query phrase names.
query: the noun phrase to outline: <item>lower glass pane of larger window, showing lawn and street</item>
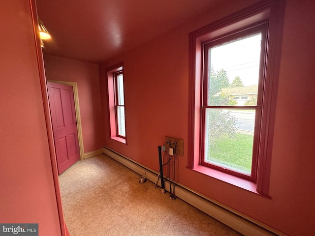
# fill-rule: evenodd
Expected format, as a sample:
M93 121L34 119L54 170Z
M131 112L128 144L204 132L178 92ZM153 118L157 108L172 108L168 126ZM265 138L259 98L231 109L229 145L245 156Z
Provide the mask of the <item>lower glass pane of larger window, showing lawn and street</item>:
M251 174L255 111L207 109L204 161Z

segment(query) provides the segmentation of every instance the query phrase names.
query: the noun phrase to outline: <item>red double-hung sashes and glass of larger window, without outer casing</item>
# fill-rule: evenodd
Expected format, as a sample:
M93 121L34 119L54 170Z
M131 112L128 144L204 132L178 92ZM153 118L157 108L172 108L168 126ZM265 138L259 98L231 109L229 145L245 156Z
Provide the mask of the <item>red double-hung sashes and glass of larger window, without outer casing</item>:
M204 44L200 163L249 180L257 170L265 44L266 24ZM236 101L247 94L252 104Z

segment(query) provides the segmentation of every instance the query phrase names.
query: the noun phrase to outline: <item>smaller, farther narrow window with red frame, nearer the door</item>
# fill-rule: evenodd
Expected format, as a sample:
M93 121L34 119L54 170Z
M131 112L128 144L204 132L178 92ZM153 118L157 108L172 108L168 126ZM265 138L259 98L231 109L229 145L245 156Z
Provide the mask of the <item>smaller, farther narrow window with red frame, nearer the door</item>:
M106 69L110 138L126 144L124 63Z

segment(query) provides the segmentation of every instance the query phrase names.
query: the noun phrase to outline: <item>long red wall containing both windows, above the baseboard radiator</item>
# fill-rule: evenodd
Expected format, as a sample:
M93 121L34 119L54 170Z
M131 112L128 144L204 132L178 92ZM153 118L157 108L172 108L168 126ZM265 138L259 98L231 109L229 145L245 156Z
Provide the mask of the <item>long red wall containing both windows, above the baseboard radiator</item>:
M189 32L254 1L233 1L196 16L142 46L100 65L104 145L158 171L164 136L188 140ZM269 194L261 197L186 168L178 180L288 235L315 232L315 2L287 0ZM125 62L128 145L109 139L106 67Z

